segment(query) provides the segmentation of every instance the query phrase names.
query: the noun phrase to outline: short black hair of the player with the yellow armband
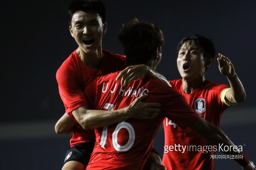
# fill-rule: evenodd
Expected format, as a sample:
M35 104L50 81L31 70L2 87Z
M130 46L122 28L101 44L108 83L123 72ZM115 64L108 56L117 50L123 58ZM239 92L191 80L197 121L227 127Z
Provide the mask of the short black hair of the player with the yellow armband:
M214 46L214 43L211 39L204 37L202 35L192 35L190 37L184 37L177 46L177 51L180 50L181 46L188 42L189 45L192 43L202 52L203 57L205 59L212 59L214 61L214 58L216 57L216 49Z

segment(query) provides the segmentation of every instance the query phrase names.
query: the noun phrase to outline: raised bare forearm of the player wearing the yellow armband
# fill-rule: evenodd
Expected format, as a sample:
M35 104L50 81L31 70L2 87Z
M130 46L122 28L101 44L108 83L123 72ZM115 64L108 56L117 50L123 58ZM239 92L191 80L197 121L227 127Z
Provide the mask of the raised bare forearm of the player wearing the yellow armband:
M230 103L240 103L243 102L245 100L246 94L244 91L244 86L241 83L241 81L239 80L238 76L235 74L232 78L227 78L229 83L230 83L230 97L228 95L227 96L227 100Z

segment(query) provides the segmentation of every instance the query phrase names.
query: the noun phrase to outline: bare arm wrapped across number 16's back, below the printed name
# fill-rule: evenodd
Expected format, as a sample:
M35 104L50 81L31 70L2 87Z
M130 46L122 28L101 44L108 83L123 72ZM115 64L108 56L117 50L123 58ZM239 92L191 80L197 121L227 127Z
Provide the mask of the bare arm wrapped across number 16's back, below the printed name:
M148 119L156 117L160 109L158 103L144 103L142 100L148 95L136 98L133 103L117 110L89 110L86 106L73 110L73 115L84 129L104 127L128 118Z

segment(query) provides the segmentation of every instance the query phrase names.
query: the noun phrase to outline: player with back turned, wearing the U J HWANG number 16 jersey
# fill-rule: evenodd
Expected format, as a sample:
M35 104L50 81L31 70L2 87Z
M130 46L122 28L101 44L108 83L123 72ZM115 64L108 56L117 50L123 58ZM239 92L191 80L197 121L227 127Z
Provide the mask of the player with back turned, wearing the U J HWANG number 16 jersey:
M146 64L156 69L161 60L163 34L152 23L140 22L137 19L124 24L119 40L126 55L128 65ZM84 89L87 106L90 109L116 110L130 105L135 98L148 94L145 102L159 102L160 115L154 119L138 120L128 118L105 127L95 127L96 143L86 170L142 170L151 152L153 138L161 126L164 117L173 120L185 129L192 128L213 145L224 144L236 148L229 138L217 127L209 124L192 111L185 98L175 89L162 82L145 76L132 81L126 86L116 77L121 71L94 79ZM76 120L85 129L88 118L86 114L73 112ZM243 156L236 159L248 170L255 170L252 162L239 153L239 150L224 151L227 154Z

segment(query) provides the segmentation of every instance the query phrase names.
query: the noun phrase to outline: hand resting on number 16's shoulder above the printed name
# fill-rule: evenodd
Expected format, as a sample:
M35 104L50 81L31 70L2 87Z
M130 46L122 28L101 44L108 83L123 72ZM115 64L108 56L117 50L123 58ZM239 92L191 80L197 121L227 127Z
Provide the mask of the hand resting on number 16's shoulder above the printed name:
M125 86L126 84L131 83L138 78L143 78L146 73L149 71L149 67L144 64L136 65L136 66L128 66L119 75L116 77L116 81L121 79L121 85Z

